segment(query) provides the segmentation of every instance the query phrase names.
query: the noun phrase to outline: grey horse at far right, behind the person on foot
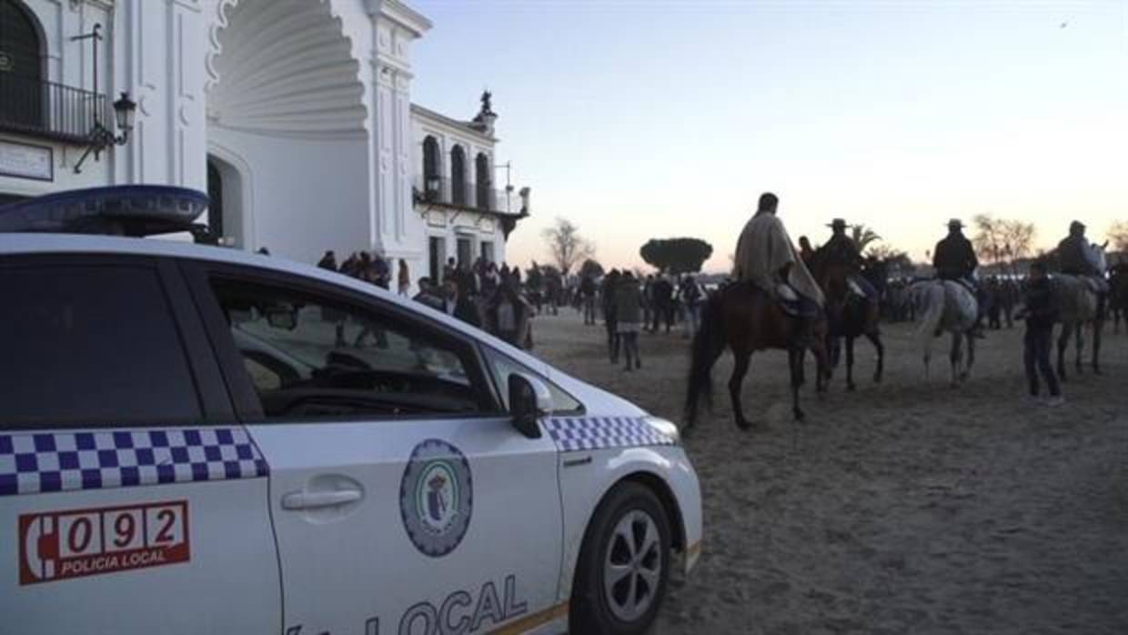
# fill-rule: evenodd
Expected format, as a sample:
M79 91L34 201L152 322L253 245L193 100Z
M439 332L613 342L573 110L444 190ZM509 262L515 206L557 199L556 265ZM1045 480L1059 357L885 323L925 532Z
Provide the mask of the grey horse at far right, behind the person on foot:
M1091 255L1098 271L1103 275L1108 268L1104 247L1092 245ZM1093 373L1101 374L1101 330L1104 325L1105 298L1101 297L1094 284L1084 276L1060 273L1050 279L1050 290L1060 311L1058 321L1061 323L1061 334L1058 336L1057 371L1063 381L1066 379L1065 351L1069 346L1070 337L1076 343L1074 368L1077 374L1082 372L1081 359L1085 351L1086 325L1093 329Z

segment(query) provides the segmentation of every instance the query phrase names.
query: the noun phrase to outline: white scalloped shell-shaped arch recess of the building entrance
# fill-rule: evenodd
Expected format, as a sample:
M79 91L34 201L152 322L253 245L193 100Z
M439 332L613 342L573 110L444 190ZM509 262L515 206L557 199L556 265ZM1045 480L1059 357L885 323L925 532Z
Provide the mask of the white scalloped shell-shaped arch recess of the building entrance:
M370 248L361 64L332 0L221 0L211 29L208 147L240 184L245 249L316 262ZM252 178L249 175L254 175ZM224 224L228 196L224 194Z

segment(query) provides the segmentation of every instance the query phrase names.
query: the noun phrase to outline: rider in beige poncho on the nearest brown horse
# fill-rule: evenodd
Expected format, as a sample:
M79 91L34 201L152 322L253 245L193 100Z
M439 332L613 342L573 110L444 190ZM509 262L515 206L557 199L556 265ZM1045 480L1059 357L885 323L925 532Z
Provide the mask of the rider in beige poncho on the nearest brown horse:
M805 349L822 314L822 291L776 217L778 205L775 194L760 195L756 214L737 242L733 277L751 282L775 298L796 320L793 345Z

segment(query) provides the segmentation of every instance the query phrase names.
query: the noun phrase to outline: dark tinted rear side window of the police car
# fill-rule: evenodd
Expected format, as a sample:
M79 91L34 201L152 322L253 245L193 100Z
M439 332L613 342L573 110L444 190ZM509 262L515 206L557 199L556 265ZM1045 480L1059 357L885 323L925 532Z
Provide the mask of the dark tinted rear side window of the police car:
M5 425L199 422L164 285L146 266L0 267Z

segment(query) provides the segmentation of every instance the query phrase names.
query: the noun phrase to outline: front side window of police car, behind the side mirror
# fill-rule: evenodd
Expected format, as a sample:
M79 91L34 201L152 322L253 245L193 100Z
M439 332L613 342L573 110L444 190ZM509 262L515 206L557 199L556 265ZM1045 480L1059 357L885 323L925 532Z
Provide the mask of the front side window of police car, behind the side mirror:
M212 289L267 420L491 409L457 339L305 291L222 277Z

